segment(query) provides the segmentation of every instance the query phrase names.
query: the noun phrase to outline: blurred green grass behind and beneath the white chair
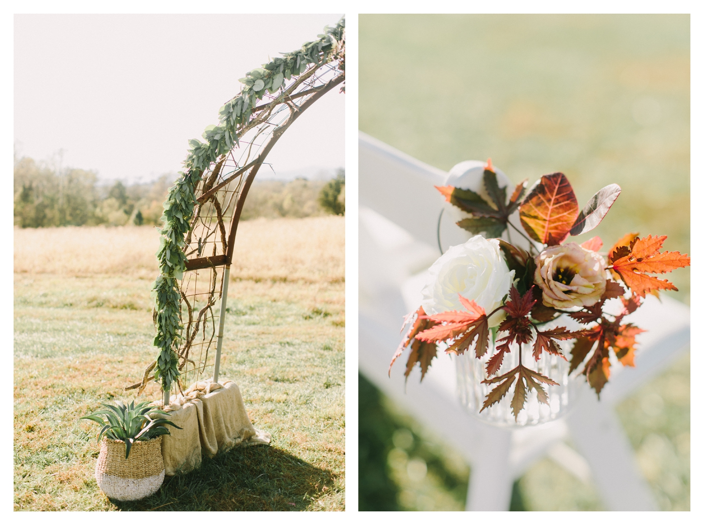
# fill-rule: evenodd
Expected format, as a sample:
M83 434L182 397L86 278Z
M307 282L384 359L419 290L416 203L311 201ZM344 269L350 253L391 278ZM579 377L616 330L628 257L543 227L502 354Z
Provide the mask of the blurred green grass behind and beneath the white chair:
M689 253L689 15L360 15L359 32L361 131L443 170L491 157L515 182L564 172L581 205L615 182L578 241L667 234ZM668 278L689 304L689 268ZM689 355L618 413L660 508L689 510ZM360 414L360 509L463 508L460 457L361 377ZM514 510L602 508L548 459L513 496Z

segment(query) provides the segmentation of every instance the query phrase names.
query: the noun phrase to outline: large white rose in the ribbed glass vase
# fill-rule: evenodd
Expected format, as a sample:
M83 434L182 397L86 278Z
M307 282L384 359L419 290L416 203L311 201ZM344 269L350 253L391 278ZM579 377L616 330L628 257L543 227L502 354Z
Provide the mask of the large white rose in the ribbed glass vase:
M513 270L508 270L498 240L475 235L464 244L451 246L430 267L430 278L423 289L423 310L427 315L460 310L458 294L476 302L489 314L503 303L513 284ZM505 312L489 318L489 327L500 324Z

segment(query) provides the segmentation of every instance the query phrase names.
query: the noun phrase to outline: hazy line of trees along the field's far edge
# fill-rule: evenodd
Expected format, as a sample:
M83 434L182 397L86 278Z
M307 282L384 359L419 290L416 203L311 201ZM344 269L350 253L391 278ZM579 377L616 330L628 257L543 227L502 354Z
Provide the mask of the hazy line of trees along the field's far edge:
M169 173L153 182L104 184L93 171L59 170L29 157L15 159L15 226L161 226L163 202L176 177ZM241 219L329 213L344 215L344 169L329 182L304 178L290 182L255 180Z

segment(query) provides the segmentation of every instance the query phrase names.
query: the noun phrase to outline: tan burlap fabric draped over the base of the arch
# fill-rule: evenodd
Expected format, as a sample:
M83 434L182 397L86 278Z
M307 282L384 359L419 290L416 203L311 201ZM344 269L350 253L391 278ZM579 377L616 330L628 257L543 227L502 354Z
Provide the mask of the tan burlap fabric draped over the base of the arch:
M171 396L164 408L172 422L162 436L161 455L167 476L185 474L201 464L201 457L213 457L237 445L268 445L270 434L252 426L237 384L227 379L193 384L184 396Z

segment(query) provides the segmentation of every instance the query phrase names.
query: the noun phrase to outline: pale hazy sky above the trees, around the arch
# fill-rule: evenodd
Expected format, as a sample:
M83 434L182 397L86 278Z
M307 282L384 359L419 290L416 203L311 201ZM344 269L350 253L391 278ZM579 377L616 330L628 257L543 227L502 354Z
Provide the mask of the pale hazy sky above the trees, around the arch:
M331 15L15 15L14 141L21 156L151 180L178 171L218 124L238 78L299 49ZM267 161L279 173L344 166L344 94L323 96Z

